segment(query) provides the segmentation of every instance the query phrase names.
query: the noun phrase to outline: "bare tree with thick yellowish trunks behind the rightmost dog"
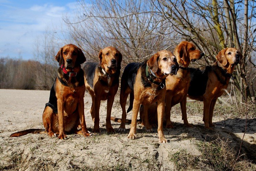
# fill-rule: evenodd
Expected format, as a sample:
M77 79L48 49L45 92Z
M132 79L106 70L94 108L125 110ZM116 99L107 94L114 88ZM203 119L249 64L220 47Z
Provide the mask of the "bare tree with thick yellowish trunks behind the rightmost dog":
M218 51L226 47L236 47L243 54L241 65L237 66L234 75L234 96L238 96L241 103L245 98L254 101L256 86L254 81L249 80L255 79L251 75L255 74L255 63L251 60L256 48L255 1L249 4L247 0L244 4L243 1L232 0L158 2L158 12L179 35L202 48L207 54L205 61L208 64L212 63Z

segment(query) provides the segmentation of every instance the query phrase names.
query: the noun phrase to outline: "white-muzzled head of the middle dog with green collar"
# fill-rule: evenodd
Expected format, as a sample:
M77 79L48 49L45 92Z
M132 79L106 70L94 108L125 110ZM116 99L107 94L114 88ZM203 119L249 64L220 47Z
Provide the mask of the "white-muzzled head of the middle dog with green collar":
M169 74L175 75L179 69L176 57L168 50L155 53L148 61L147 66L158 78L166 78Z

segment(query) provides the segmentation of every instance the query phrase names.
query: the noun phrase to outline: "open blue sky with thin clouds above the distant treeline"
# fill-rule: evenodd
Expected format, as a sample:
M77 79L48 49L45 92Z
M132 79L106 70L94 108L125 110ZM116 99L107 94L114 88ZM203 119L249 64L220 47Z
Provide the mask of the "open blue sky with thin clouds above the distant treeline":
M45 30L66 27L76 0L0 0L0 57L33 59L35 41ZM64 35L65 36L65 35Z

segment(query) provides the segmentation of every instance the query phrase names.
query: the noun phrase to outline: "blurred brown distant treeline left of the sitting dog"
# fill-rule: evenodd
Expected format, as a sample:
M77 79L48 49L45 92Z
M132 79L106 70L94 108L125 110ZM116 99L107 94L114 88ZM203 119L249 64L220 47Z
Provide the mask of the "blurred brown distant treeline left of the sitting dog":
M38 61L0 58L0 88L49 90L57 67Z

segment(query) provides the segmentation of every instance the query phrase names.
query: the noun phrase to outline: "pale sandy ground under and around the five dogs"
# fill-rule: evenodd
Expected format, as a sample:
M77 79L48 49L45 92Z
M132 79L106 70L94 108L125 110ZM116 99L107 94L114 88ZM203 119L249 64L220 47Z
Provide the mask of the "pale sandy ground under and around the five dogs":
M49 91L0 89L0 168L17 170L75 170L129 168L134 170L175 170L170 155L180 149L189 154L200 155L196 143L217 135L229 139L238 148L244 132L245 119L213 117L216 127L205 130L202 111L188 113L188 121L194 127L185 127L181 120L179 106L171 113L174 129L165 129L167 144L158 143L157 129L146 133L144 127L137 126L138 139L127 138L130 125L125 133L107 134L105 130L106 101L100 107L100 134L90 137L68 135L67 140L50 138L46 134L28 134L11 138L11 133L31 128L43 128L42 113L48 102ZM89 131L93 128L89 109L91 98L86 92L85 120ZM112 116L121 117L119 95L116 95ZM131 113L127 115L131 118ZM119 123L112 122L116 130ZM242 152L256 162L256 118L247 121ZM15 169L15 170L16 170ZM0 169L1 170L1 169Z

